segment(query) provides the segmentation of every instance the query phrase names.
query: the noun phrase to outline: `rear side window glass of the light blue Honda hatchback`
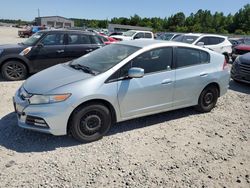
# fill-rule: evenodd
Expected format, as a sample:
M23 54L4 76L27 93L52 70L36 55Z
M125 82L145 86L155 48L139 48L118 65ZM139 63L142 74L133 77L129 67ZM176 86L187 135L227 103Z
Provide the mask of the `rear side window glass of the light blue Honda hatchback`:
M207 52L192 48L177 48L177 68L209 63Z

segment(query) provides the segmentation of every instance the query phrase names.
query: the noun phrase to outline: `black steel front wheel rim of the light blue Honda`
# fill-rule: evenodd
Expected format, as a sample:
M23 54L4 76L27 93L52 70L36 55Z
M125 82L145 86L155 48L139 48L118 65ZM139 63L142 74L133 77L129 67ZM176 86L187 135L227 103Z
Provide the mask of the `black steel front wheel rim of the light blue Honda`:
M81 119L80 129L84 134L92 135L100 130L101 125L101 118L96 114L91 114Z

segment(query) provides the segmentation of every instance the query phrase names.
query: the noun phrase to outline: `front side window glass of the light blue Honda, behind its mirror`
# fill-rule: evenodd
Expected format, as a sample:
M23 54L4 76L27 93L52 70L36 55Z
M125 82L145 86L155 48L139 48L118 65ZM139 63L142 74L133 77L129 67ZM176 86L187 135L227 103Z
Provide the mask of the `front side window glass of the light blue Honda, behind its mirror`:
M129 68L143 68L145 73L167 70L172 64L172 48L159 48L145 52L121 69L121 77L127 75Z

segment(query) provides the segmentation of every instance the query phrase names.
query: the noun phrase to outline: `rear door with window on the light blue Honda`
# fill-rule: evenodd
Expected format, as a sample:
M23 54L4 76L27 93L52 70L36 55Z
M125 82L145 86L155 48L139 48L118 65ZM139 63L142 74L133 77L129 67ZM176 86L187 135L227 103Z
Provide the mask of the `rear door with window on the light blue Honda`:
M196 105L202 89L211 80L210 56L203 50L176 47L174 106Z

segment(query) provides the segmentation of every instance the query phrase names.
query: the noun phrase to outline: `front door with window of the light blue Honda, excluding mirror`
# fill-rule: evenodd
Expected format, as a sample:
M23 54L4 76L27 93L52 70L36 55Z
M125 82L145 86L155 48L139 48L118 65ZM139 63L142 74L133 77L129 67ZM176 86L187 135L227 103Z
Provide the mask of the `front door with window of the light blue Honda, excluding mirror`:
M120 69L126 77L131 67L143 68L142 78L118 81L118 101L122 119L166 111L172 107L175 71L172 48L158 48L145 52Z

